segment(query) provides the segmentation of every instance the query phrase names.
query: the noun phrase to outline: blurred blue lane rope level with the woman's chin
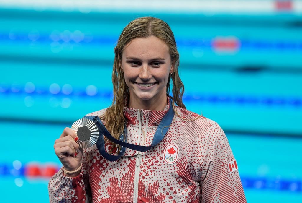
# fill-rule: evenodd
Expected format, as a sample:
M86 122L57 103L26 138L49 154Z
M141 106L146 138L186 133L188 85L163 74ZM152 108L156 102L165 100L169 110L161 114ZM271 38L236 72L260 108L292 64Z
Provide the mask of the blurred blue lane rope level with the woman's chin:
M0 95L20 95L20 96L50 96L50 97L100 97L111 100L113 93L110 90L98 91L94 96L89 96L85 88L72 89L72 93L66 95L62 91L53 94L47 87L36 87L31 93L24 91L24 87L0 84ZM277 106L277 107L302 107L301 97L272 97L272 96L243 96L243 95L219 95L219 94L185 94L183 100L186 102L211 103L211 104L235 104L235 105L254 105L254 106Z

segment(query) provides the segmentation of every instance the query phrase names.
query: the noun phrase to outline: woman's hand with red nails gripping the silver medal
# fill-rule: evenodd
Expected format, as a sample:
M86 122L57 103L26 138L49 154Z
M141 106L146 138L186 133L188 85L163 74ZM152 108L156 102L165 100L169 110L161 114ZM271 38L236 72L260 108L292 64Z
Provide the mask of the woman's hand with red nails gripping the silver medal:
M83 149L79 148L76 143L78 140L77 134L71 129L66 127L63 130L59 139L56 139L53 148L55 149L56 156L60 159L66 171L74 171L78 169L82 163ZM74 174L66 174L70 177L79 175L81 170Z

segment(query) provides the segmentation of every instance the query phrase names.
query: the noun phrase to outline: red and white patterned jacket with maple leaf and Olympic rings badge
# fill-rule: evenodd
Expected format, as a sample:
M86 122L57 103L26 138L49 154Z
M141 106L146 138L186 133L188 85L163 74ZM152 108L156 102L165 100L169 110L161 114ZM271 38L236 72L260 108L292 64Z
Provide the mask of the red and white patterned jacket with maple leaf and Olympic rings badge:
M127 142L150 146L169 108L125 107ZM67 177L60 169L50 179L50 202L245 203L238 167L220 126L203 116L193 120L198 114L183 108L175 110L180 117L175 113L164 139L147 152L126 149L122 158L111 162L96 145L84 149L77 177Z

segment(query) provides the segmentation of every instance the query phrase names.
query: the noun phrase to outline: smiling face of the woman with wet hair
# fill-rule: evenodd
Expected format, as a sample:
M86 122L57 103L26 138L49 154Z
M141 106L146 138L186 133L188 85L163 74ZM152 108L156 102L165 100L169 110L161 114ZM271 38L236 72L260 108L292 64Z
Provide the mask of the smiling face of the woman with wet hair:
M155 36L133 39L124 47L120 64L131 103L166 100L169 73L174 67L164 41Z

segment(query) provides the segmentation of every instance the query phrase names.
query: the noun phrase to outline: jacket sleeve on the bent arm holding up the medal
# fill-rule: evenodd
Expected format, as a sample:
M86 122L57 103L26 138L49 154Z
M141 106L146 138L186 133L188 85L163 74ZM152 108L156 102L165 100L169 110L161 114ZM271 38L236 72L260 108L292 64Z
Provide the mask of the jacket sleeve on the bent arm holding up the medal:
M86 150L83 150L82 171L74 177L63 174L63 167L50 179L48 192L50 203L88 203L92 202L92 194L89 185L88 161Z

